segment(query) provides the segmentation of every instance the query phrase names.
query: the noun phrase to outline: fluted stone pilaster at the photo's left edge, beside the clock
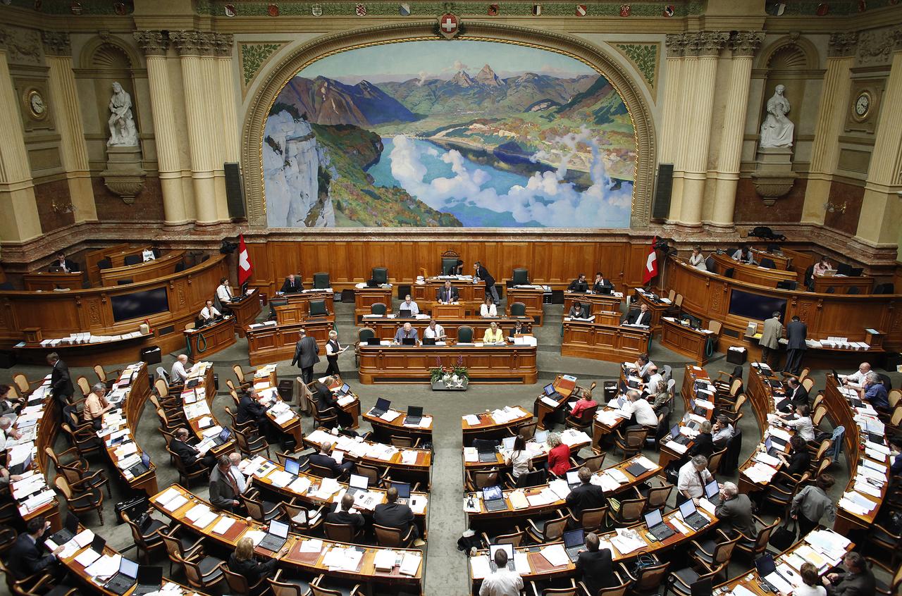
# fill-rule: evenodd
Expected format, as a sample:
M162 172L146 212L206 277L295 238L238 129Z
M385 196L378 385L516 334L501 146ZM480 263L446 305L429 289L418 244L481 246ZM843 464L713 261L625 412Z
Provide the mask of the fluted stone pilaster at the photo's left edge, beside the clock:
M4 243L22 243L41 235L20 109L6 62L5 32L0 30L0 241Z

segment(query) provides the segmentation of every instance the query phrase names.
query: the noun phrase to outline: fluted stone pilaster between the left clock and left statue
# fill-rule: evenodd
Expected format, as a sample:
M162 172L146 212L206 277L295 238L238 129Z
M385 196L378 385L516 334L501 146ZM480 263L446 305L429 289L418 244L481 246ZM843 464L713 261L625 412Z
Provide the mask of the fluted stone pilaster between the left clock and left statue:
M81 122L75 73L72 72L72 46L69 33L41 32L44 55L50 67L50 92L53 116L60 133L60 156L69 200L75 207L75 223L97 221L91 169L87 163L85 127Z

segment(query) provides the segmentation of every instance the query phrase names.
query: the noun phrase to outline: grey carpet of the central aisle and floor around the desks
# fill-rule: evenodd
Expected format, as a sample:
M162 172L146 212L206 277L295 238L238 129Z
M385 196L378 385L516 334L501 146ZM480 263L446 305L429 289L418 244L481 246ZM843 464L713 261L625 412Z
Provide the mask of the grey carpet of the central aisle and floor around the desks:
M268 308L264 312L268 312ZM336 303L336 327L340 334L340 341L353 343L356 337L356 328L353 319L353 304ZM467 579L467 566L465 555L456 550L456 541L465 530L465 515L463 512L463 471L462 471L462 433L460 419L465 414L472 414L485 409L501 408L506 405L520 405L531 410L533 400L541 387L554 379L557 373L569 373L578 377L580 384L588 385L592 381L611 380L618 374L618 365L614 362L600 362L580 358L569 358L560 355L561 341L561 316L560 305L548 305L545 307L545 325L535 328L538 337L538 369L539 381L536 385L474 385L465 393L433 392L426 384L414 385L361 385L357 382L357 373L354 367L353 351L348 351L339 359L342 375L360 396L364 411L373 406L375 399L384 397L391 399L396 408L406 408L408 405L419 405L425 408L427 414L435 417L435 463L432 471L432 493L430 495L428 518L428 551L425 569L425 592L427 594L462 594L469 591ZM167 354L163 365L169 370L177 354ZM674 369L677 390L682 386L683 371L686 358L662 348L657 342L652 344L650 356L658 365L670 364ZM214 362L215 371L219 375L220 389L226 390L226 378L231 378L233 363L244 366L247 362L247 343L239 339L238 343L227 350L213 354L206 360ZM125 364L123 362L122 364ZM109 366L121 368L121 366ZM156 366L152 366L152 371ZM315 370L319 375L326 369L325 358ZM713 362L709 362L706 370L713 377L716 371L732 371L732 364L723 361L723 355L718 354ZM11 383L13 371L22 371L29 379L37 379L49 372L46 367L17 366L13 370L0 371L0 382ZM299 371L290 366L290 362L280 362L279 374L281 378L293 379ZM89 381L95 380L93 371L87 369L72 369L73 380L79 375L84 375ZM893 384L898 386L900 375L893 373ZM748 365L745 366L745 378L748 379ZM824 374L815 373L815 391L824 386ZM220 420L226 421L225 408L231 402L228 394L220 393L214 404L214 412ZM676 413L674 419L683 415L682 400L676 399ZM312 420L305 419L304 430L309 432L312 428ZM144 409L139 428L135 433L136 440L143 449L151 454L152 460L158 464L157 480L162 490L172 482L178 481L178 474L171 468L163 449L162 436L156 431L157 417L152 410L150 402ZM745 406L745 417L741 420L741 430L745 436L743 451L740 461L744 461L756 445L756 437L760 436L760 430L755 421L750 406ZM826 426L825 426L826 427ZM364 424L363 430L368 430ZM64 449L65 441L60 437L58 448ZM587 454L585 450L583 455ZM658 461L658 454L653 451L645 453L653 461ZM615 463L609 458L605 465ZM105 456L97 457L91 461L92 469L106 470L110 478L115 478L115 470L105 461ZM848 471L843 461L839 465L833 465L834 474L837 477L834 497L845 487L848 481ZM52 477L52 476L51 476ZM733 480L735 478L719 477L719 480ZM117 525L115 522L114 504L124 499L127 491L124 486L116 481L113 484L113 499L104 501L104 518L106 524L99 527L97 516L88 516L84 519L89 527L93 527L105 536L107 543L117 549L124 549L133 543L128 528ZM207 488L200 483L195 483L192 490L199 495L206 496ZM671 497L673 505L674 497ZM169 571L166 555L157 557L157 564L162 564L166 573ZM740 564L732 564L730 575L735 577L741 573ZM177 574L173 579L184 582L184 578ZM5 590L5 586L0 591Z

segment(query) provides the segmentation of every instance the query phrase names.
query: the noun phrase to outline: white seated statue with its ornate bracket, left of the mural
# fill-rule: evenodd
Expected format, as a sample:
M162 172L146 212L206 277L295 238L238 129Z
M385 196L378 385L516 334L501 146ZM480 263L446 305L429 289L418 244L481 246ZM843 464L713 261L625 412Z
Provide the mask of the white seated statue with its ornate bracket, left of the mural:
M110 138L106 142L106 170L100 172L104 185L126 205L134 203L144 188L147 172L141 167L138 130L132 115L132 96L119 83L113 83L110 97Z

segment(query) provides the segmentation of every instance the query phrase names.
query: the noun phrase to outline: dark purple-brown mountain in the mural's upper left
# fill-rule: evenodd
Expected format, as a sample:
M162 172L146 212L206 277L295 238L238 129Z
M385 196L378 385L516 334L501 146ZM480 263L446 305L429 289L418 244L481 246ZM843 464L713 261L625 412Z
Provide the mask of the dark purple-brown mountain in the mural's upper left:
M366 80L346 85L326 77L295 77L281 90L278 101L295 107L316 124L366 127L417 119L408 108Z

